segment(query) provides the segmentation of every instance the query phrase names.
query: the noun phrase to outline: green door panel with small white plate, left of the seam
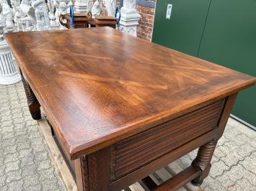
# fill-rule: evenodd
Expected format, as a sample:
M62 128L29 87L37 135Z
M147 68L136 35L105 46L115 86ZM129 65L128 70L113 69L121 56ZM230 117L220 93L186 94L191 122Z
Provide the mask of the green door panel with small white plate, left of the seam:
M167 4L172 4L166 19ZM210 0L156 1L152 42L196 56L206 22Z

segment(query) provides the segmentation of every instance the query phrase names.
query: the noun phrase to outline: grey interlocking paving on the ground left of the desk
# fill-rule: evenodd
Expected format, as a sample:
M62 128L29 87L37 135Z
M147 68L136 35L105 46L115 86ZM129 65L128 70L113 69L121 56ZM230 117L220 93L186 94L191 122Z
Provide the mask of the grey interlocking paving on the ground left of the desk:
M43 190L40 173L57 182L55 190L65 190L54 169L37 121L28 111L22 83L0 85L0 190Z

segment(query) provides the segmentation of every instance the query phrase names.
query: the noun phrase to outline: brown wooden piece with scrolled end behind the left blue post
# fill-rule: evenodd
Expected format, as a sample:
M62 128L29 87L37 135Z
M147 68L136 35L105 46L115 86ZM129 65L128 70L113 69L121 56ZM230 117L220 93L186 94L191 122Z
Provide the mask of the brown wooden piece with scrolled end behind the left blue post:
M66 20L66 23L64 23L63 20ZM71 28L70 21L69 21L69 14L61 14L59 17L59 21L64 27L68 29ZM75 29L87 28L89 27L89 18L87 17L86 14L75 13L74 24L75 24Z

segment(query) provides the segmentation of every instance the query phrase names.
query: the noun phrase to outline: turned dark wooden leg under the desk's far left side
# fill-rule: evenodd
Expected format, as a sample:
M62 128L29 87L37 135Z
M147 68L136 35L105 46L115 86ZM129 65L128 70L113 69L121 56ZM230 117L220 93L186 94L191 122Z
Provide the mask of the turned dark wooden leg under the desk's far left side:
M25 93L27 96L27 105L30 109L30 114L33 119L39 120L41 118L40 103L37 101L35 94L33 93L32 89L30 88L30 85L27 83L23 75L22 83L24 85Z

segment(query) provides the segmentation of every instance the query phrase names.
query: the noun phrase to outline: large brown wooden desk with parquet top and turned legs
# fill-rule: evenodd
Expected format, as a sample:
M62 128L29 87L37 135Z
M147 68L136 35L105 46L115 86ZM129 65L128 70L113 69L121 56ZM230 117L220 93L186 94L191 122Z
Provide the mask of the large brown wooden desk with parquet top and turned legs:
M5 38L32 117L42 106L79 190L122 190L138 180L151 190L202 183L237 92L255 83L109 27ZM149 184L148 174L198 147L185 171Z

